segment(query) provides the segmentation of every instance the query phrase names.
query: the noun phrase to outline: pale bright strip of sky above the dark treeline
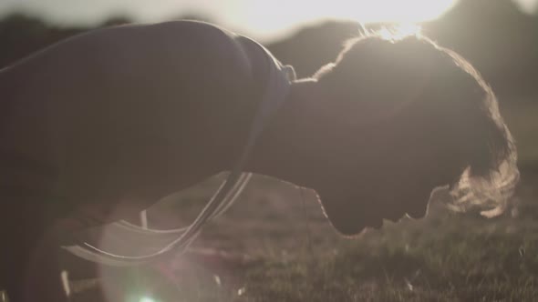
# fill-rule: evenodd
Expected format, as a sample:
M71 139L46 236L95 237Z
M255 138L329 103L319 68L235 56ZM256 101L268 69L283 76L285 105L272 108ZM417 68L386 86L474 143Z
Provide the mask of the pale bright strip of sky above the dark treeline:
M458 0L0 0L0 16L13 12L39 15L59 25L92 25L124 15L141 23L181 15L202 15L243 35L270 41L320 19L364 23L420 22L450 9ZM514 0L535 11L538 0Z

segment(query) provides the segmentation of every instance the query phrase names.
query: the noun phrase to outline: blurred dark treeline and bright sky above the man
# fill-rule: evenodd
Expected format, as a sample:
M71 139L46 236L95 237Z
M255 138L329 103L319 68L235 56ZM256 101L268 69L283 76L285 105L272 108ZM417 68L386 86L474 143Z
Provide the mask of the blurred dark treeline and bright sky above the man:
M253 37L298 76L334 60L359 22L419 23L491 84L518 141L520 164L538 161L538 0L2 0L0 67L92 28L184 18Z

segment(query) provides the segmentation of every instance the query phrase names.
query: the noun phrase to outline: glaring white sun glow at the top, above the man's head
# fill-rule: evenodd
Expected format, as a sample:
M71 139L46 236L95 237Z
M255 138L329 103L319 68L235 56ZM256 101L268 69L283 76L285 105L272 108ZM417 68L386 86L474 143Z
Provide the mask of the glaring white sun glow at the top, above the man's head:
M297 26L320 20L346 19L368 23L418 24L448 11L458 0L249 0L230 24L248 24L258 36L283 36Z

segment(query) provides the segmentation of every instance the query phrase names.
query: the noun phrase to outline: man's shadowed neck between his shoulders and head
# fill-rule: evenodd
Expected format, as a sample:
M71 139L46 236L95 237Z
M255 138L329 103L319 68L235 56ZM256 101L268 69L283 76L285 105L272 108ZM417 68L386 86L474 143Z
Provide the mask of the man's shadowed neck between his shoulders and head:
M246 170L274 176L297 186L314 186L316 80L293 83L290 95L258 138Z

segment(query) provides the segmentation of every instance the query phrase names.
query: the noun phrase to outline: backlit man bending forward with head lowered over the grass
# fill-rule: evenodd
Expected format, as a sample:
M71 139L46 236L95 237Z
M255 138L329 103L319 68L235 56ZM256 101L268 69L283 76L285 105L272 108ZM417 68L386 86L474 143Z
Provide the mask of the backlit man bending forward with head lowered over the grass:
M284 71L252 40L190 21L100 29L2 70L0 281L12 299L66 298L53 251L69 232L238 163L315 189L345 236L424 216L437 186L457 206L505 205L512 136L459 55L372 35L312 77L269 85Z

